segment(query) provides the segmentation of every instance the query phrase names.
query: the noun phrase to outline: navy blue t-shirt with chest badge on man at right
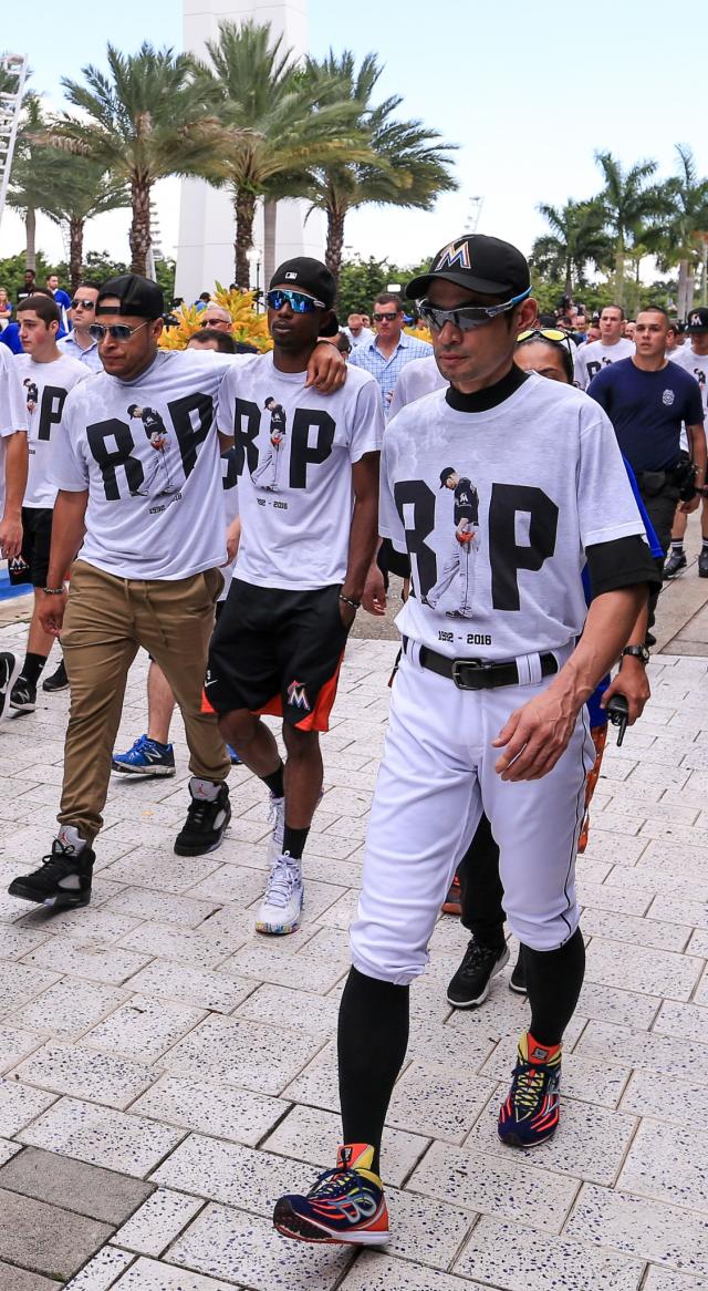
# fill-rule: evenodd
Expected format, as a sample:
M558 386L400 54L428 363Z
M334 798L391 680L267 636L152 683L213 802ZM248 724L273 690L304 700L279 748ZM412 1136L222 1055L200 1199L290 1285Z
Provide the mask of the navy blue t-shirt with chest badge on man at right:
M588 395L607 413L634 471L674 466L681 422L703 422L698 381L676 363L667 363L659 372L644 372L632 359L619 359L592 378Z

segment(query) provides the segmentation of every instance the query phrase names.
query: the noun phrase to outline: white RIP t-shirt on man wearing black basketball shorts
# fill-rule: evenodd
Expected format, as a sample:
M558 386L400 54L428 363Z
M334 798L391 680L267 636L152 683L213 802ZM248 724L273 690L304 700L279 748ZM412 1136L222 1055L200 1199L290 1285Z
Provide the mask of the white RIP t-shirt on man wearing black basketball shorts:
M219 430L235 436L244 525L236 578L311 590L342 582L353 510L352 465L378 452L380 392L357 368L331 395L280 372L272 354L228 373Z

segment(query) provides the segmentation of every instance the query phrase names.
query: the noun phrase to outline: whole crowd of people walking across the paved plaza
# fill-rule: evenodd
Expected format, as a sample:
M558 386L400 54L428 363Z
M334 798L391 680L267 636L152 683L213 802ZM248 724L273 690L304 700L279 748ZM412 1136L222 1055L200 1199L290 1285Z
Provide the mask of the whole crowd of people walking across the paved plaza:
M25 658L0 653L0 718L28 719L57 639L44 684L68 686L71 706L59 829L13 896L90 901L111 771L174 775L178 705L191 778L175 853L222 844L241 762L272 820L255 927L293 933L347 636L360 608L384 613L388 573L404 578L339 1012L343 1145L273 1214L291 1239L386 1243L383 1130L441 906L469 932L454 1007L486 998L504 923L521 948L509 985L530 1019L499 1137L529 1148L557 1128L584 972L575 856L607 705L641 717L664 560L673 545L667 573L682 567L705 496L708 310L685 334L654 305L633 336L611 303L539 318L524 256L484 235L342 329L325 265L285 262L266 355L239 352L208 293L175 351L148 279L83 283L68 302L26 285L18 352L0 345L0 545L34 611ZM432 343L406 333L408 302ZM147 731L120 753L141 648ZM264 715L282 720L284 760Z

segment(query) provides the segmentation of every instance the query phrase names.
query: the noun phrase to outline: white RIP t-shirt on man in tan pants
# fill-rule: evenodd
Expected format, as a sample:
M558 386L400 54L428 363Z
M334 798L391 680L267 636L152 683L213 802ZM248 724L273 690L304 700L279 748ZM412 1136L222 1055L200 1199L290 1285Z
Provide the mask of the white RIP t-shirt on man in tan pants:
M159 351L135 381L98 373L64 405L55 483L89 491L80 558L121 578L188 578L226 563L215 405L250 356Z

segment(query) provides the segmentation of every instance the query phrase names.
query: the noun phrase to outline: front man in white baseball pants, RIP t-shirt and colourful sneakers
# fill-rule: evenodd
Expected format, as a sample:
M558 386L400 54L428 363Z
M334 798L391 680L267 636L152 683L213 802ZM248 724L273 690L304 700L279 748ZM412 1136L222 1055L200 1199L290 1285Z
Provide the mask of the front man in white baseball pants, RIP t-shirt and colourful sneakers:
M531 1006L499 1135L526 1148L556 1130L561 1041L584 967L574 883L593 763L584 701L656 578L602 409L513 364L536 314L521 253L460 236L406 294L450 385L405 407L383 443L379 533L410 555L411 595L339 1013L344 1146L334 1171L307 1195L281 1197L273 1216L284 1235L310 1242L388 1239L379 1149L409 988L482 811L507 918L527 948ZM440 487L444 475L454 488ZM475 492L475 580L468 591L459 563L442 590L462 482Z

